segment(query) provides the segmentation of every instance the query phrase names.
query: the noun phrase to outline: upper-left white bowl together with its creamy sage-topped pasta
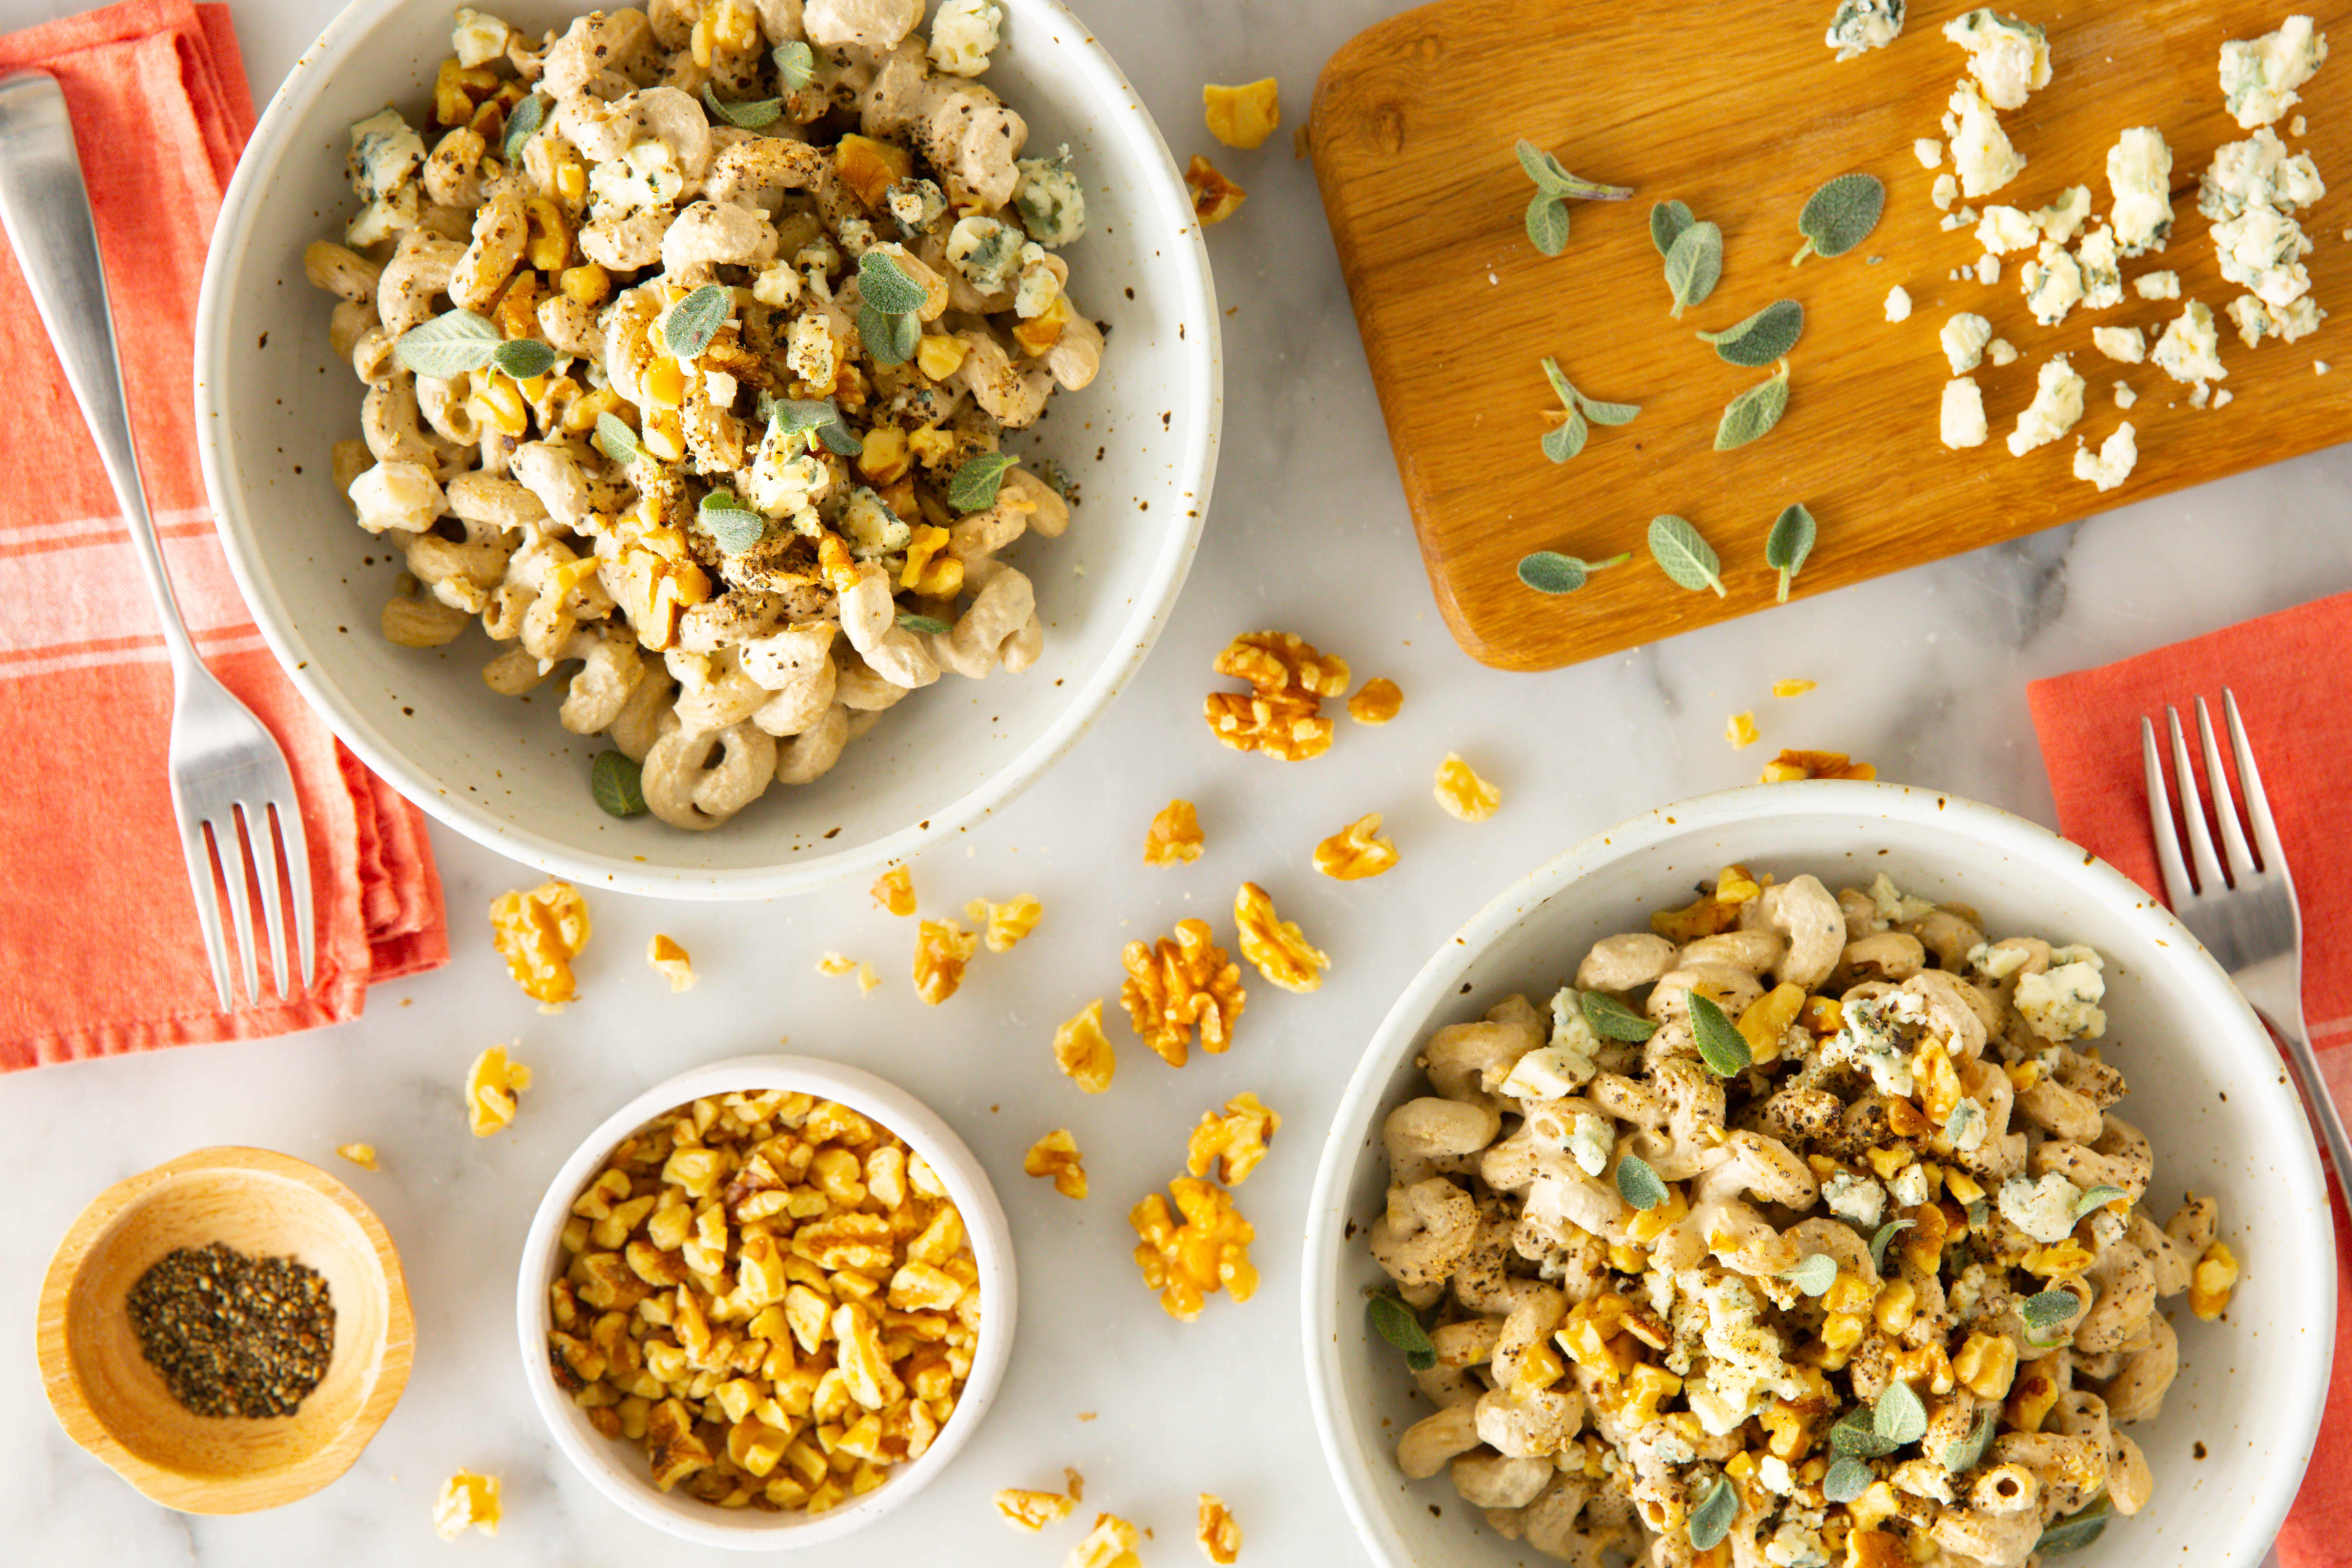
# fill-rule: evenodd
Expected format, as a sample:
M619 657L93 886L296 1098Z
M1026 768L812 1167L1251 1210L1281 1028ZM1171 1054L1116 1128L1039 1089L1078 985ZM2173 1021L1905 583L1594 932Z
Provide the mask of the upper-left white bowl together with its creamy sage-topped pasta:
M1190 197L1058 0L355 2L238 165L195 381L353 752L680 898L1051 766L1183 585L1221 407Z

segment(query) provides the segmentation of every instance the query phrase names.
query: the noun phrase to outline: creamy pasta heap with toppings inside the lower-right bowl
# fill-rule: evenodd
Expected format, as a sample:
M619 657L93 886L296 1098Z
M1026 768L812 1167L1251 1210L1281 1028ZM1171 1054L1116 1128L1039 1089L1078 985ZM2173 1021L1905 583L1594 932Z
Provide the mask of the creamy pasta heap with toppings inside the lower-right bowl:
M1437 1030L1369 1232L1437 1403L1399 1467L1595 1568L2013 1566L2136 1514L2159 1300L2218 1316L2237 1260L2213 1199L2150 1208L2100 969L1733 865L1548 1020Z

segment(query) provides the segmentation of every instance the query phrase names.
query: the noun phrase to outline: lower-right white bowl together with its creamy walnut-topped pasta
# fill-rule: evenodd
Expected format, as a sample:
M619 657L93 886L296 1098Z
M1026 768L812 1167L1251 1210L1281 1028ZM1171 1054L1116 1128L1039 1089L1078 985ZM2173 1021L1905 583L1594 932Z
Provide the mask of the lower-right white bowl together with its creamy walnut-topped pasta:
M1303 1276L1390 1568L2258 1563L2336 1321L2310 1131L2194 938L1846 780L1635 818L1446 943Z

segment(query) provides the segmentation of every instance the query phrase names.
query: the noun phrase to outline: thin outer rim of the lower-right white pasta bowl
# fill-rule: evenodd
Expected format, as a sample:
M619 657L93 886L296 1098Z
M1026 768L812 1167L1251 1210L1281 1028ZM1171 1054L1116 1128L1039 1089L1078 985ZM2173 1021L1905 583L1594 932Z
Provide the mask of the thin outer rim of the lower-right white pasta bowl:
M1371 1497L1369 1488L1374 1476L1381 1465L1390 1462L1390 1455L1385 1450L1367 1453L1362 1443L1357 1443L1352 1425L1343 1420L1350 1408L1350 1394L1343 1387L1334 1345L1341 1333L1338 1269L1343 1239L1341 1227L1348 1222L1348 1185L1355 1180L1357 1159L1367 1157L1367 1150L1362 1147L1364 1133L1371 1124L1374 1107L1381 1103L1390 1077L1397 1072L1399 1053L1421 1037L1437 1006L1456 994L1463 973L1468 973L1496 940L1595 867L1621 860L1639 849L1649 849L1661 839L1703 832L1719 823L1811 813L1872 813L1933 823L1940 827L1964 823L1969 832L1980 837L1990 849L2004 849L2020 858L2049 860L2053 849L2060 851L2070 877L2082 879L2093 893L2105 896L2107 903L2122 910L2126 919L2145 926L2152 940L2161 940L2183 954L2183 976L2204 992L2216 1020L2227 1020L2227 1027L2239 1032L2249 1048L2258 1046L2263 1051L2274 1051L2263 1023L2253 1016L2253 1009L2246 1006L2246 999L2230 983L2230 976L2220 969L2220 964L2213 961L2213 954L2204 950L2204 943L2190 936L2187 926L2183 926L2171 910L2150 898L2147 889L2131 882L2105 860L2091 856L2082 844L2058 837L2042 823L2032 823L2013 811L2002 811L1999 806L1952 795L1950 790L1863 780L1740 785L1736 790L1696 795L1684 802L1644 811L1642 816L1564 849L1534 872L1503 889L1503 893L1470 917L1470 922L1454 938L1449 938L1428 964L1421 966L1421 973L1411 978L1404 994L1399 994L1395 1006L1388 1009L1388 1016L1381 1020L1371 1044L1364 1048L1355 1074L1348 1079L1348 1093L1341 1098L1338 1110L1331 1117L1331 1131L1324 1138L1322 1164L1315 1168L1315 1194L1308 1199L1305 1258L1298 1269L1303 1281L1301 1324L1305 1328L1308 1403L1315 1408L1315 1432L1322 1439L1331 1481L1338 1486L1341 1502L1348 1507L1348 1519L1355 1523L1355 1533L1364 1542L1364 1549L1371 1552L1374 1561L1385 1568L1411 1568L1414 1556ZM2232 1088L2239 1086L2232 1084ZM2244 1093L2272 1100L2270 1112L2303 1133L2293 1140L2293 1150L2286 1152L2291 1190L2284 1192L2281 1199L2319 1215L2317 1222L2324 1229L2319 1244L2328 1248L2328 1255L2333 1255L2333 1213L2328 1208L2326 1175L2319 1168L2319 1147L2312 1143L2310 1124L2303 1119L2303 1105L2296 1100L2296 1091L2286 1086L2284 1074L2251 1074L2244 1084ZM2310 1276L2314 1284L2307 1288L2307 1300L2303 1302L2305 1321L2333 1326L2336 1269L2312 1269ZM2321 1338L2326 1340L2326 1335ZM2328 1349L2333 1354L2331 1340ZM2281 1453L2298 1458L2293 1465L2272 1465L2258 1476L2253 1488L2256 1502L2244 1514L2237 1549L2213 1568L2241 1568L2246 1563L2263 1561L2272 1535L2277 1535L2279 1523L2286 1519L2286 1509L2296 1500L2296 1490L2303 1486L2303 1472L2310 1465L2312 1443L2319 1439L2319 1418L2326 1406L2326 1368L2321 1368L2321 1375L2303 1387L2279 1389L2274 1406L2279 1415L2277 1432L2288 1439L2281 1446Z

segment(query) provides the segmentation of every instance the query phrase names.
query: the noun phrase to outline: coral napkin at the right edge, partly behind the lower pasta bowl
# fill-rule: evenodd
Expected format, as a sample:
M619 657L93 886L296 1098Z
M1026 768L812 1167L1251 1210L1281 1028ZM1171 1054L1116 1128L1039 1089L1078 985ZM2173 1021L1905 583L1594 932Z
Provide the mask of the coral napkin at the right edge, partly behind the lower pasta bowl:
M2220 689L2237 693L2303 900L2303 1016L2331 1093L2352 1114L2352 832L2343 827L2352 799L2343 785L2345 757L2352 757L2352 663L2345 646L2352 646L2352 595L2336 595L2100 670L2034 682L2027 698L2058 795L2058 827L2161 898L2140 729L2131 719L2161 719L2164 703L2173 703L2183 722L2192 722L2187 705L2204 696L2220 722ZM2194 733L2190 745L2197 745ZM2347 1246L2352 1222L2338 1199L2336 1382L2303 1493L2279 1530L2284 1568L2352 1566Z

